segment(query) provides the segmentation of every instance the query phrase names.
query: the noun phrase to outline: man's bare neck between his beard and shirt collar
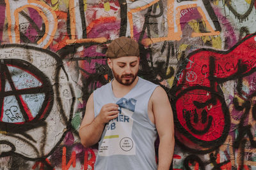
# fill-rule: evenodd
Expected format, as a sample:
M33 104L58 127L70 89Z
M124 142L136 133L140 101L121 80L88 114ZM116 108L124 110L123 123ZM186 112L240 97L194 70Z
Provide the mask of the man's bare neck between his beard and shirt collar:
M139 77L137 76L136 79L132 82L131 85L122 85L118 83L115 79L112 81L112 90L116 97L124 97L137 83Z

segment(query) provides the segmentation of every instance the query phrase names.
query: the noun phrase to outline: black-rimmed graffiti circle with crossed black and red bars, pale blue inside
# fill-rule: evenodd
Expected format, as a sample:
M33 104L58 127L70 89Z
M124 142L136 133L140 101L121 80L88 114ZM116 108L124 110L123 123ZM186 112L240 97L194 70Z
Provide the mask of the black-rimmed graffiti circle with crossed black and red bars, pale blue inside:
M53 102L52 85L35 66L20 59L1 59L2 123L24 124L45 118Z

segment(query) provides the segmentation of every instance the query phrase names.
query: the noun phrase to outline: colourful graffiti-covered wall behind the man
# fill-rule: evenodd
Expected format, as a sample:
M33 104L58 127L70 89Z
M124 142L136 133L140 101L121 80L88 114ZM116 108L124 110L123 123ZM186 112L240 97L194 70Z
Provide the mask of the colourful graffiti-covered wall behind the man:
M255 0L0 1L1 169L94 169L78 129L113 78L108 43L140 43L139 75L175 122L173 169L256 169ZM157 143L156 143L157 149Z

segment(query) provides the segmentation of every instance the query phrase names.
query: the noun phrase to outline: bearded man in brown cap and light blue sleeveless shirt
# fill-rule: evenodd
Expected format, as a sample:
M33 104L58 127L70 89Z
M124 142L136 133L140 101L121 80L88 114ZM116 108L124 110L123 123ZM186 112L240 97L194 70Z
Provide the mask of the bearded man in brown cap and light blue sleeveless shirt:
M96 170L169 170L174 135L170 102L163 88L137 76L139 46L117 38L106 56L114 79L95 90L79 129L81 143L99 141ZM154 143L159 136L158 166Z

